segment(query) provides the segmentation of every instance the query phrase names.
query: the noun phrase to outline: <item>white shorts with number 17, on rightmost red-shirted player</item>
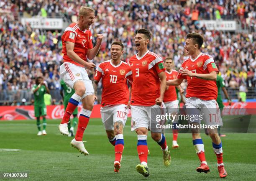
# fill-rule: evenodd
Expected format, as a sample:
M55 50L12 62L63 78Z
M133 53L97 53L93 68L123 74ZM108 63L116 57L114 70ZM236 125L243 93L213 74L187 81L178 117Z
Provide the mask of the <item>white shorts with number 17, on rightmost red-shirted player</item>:
M186 113L187 115L199 115L200 117L191 121L188 120L188 123L198 122L201 124L201 121L204 121L206 125L213 126L223 126L222 118L220 115L220 108L218 103L212 100L202 100L197 97L189 97L186 100Z

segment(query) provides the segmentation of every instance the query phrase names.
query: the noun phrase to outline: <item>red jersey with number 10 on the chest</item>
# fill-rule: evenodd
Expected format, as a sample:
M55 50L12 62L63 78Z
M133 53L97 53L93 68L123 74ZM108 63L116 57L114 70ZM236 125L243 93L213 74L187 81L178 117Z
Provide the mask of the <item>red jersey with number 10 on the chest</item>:
M129 90L127 74L131 71L130 66L121 61L114 65L111 60L102 62L97 68L94 79L102 82L101 106L128 104Z

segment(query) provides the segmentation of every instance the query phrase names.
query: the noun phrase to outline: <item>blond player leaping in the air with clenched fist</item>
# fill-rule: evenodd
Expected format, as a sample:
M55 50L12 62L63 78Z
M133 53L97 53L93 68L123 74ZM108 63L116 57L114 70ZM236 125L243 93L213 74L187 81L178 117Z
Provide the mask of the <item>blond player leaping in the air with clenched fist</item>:
M89 70L94 69L95 64L87 62L87 58L92 60L96 56L103 38L102 34L97 34L97 44L95 47L92 46L92 33L89 28L94 22L94 13L95 11L91 8L82 6L79 9L77 23L70 24L61 37L64 64L60 66L60 74L64 82L75 90L75 93L69 99L59 125L59 131L64 135L69 134L67 123L70 115L82 100L83 108L78 120L77 133L71 141L71 145L84 155L89 155L89 153L84 148L82 138L92 113L95 98L92 82L84 67Z

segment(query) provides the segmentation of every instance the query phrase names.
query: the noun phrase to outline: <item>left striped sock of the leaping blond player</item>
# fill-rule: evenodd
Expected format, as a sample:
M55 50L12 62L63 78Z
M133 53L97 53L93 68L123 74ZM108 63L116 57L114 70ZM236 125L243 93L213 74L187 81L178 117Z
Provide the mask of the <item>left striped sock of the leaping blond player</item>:
M65 111L64 116L62 118L61 124L69 122L70 116L72 115L72 113L76 109L80 100L81 100L81 97L79 95L77 95L76 93L74 93L72 95L72 97L69 99L69 103L67 105L66 111Z

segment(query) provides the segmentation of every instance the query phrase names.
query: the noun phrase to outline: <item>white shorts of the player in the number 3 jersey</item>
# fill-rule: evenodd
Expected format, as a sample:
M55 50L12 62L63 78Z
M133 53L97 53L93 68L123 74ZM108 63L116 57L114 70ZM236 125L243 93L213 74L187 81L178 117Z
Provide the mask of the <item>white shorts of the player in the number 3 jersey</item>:
M161 115L166 114L164 102L161 106L135 106L131 105L131 130L136 130L139 127L146 127L151 132L161 132L162 125L165 124L165 119L160 119Z

